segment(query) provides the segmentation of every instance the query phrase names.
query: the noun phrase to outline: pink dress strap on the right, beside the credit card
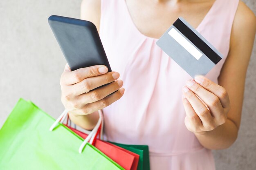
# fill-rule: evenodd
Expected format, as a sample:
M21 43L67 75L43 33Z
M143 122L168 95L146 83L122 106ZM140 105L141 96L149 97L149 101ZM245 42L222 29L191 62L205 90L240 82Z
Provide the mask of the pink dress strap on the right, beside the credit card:
M238 4L239 0L216 0L214 8L200 27L200 33L219 49L224 58L229 52L231 29Z

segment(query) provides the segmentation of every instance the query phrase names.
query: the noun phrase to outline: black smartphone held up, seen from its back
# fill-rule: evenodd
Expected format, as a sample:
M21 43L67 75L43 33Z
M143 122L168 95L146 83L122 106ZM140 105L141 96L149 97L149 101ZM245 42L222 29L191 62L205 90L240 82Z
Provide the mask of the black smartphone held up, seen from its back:
M71 71L94 65L105 65L112 71L92 22L58 15L50 16L48 22Z

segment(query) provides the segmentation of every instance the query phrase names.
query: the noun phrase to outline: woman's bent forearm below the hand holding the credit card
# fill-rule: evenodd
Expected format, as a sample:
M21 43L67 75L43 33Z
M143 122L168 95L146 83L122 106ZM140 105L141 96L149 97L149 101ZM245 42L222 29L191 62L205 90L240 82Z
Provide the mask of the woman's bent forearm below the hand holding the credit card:
M238 128L230 119L214 130L195 133L202 146L213 150L228 148L236 141L237 135Z

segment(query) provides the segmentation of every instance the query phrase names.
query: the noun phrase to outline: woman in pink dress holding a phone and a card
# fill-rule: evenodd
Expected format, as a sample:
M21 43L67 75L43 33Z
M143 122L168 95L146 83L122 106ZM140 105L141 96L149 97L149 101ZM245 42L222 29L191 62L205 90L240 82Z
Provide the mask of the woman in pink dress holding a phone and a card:
M155 44L179 16L224 56L205 77L191 79ZM237 138L254 13L238 0L83 0L81 19L97 26L114 71L66 65L71 120L91 130L103 109L105 137L148 145L151 170L214 170L211 150Z

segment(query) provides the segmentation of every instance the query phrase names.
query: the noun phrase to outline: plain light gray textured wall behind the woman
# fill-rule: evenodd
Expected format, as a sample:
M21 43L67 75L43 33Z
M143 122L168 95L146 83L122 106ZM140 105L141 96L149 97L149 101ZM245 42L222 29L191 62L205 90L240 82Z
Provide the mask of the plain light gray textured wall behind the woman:
M0 127L20 97L50 115L63 110L59 78L65 60L48 26L50 15L79 18L80 0L0 0ZM256 13L256 1L244 0ZM217 170L256 170L256 43L247 72L236 143L214 151Z

